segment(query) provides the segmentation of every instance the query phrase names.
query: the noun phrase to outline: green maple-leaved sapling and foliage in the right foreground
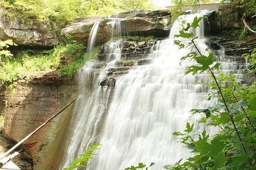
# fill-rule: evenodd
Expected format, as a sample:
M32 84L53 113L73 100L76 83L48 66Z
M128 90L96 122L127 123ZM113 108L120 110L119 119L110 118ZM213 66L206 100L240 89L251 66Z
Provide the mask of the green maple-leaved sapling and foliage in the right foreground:
M190 48L188 55L181 60L189 59L197 62L197 66L188 67L186 74L209 71L211 83L205 84L210 89L211 98L219 100L218 105L206 109L193 109L191 113L204 113L204 117L198 120L207 126L218 126L222 131L209 137L204 130L191 134L194 125L187 123L183 133L173 134L184 143L191 152L195 153L184 163L181 160L174 165L166 165L165 169L253 169L255 167L255 115L256 98L255 82L250 86L240 85L233 74L225 75L223 72L216 76L214 70L220 63L214 64L215 57L212 53L202 55L195 43L194 34L188 32L190 28L199 27L200 19L195 18L193 23L188 23L179 35L189 40L183 44L176 40L175 44L180 48ZM193 50L196 48L197 53ZM253 55L253 54L252 54ZM255 58L251 59L255 63ZM212 66L214 65L214 66Z

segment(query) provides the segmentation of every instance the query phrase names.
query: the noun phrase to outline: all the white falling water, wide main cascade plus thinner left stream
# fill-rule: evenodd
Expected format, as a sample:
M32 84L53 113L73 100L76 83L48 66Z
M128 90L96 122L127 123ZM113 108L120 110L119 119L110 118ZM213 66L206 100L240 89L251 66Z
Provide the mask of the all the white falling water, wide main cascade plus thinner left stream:
M108 64L99 76L94 76L92 93L84 94L83 89L92 76L93 62L81 69L80 95L71 119L72 134L67 139L68 149L60 169L96 140L102 146L88 164L91 170L121 170L139 162L147 165L155 162L152 169L162 169L166 164L191 155L172 133L183 131L187 121L195 123L201 116L190 118L192 108L206 107L215 102L203 102L207 91L203 85L197 84L207 82L207 74L184 75L187 67L195 63L185 61L180 65L180 58L189 51L174 45L174 35L184 23L181 20L192 22L196 15L199 14L181 16L174 23L169 38L158 41L152 48L148 56L152 58L151 64L137 65L117 79L109 106L106 104L109 88L99 86L99 82L105 79L108 68L120 59L122 41L113 42L106 51ZM201 52L205 53L207 45L203 22L194 33L199 37L197 43ZM225 72L234 71L239 75L234 61L225 62L221 58L224 55L222 51L216 53L220 55L217 59L222 61L221 67ZM102 117L103 126L100 125ZM194 129L201 131L203 128L195 124ZM102 129L101 136L99 129ZM214 133L216 129L208 131Z

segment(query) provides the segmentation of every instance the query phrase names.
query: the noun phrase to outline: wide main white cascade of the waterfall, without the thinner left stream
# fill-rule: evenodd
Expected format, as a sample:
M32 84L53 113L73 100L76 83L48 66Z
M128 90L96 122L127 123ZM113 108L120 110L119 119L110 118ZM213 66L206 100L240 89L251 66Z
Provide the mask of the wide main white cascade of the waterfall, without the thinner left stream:
M186 15L180 19L185 23L192 22L195 16ZM183 131L189 111L199 105L206 93L206 88L196 83L208 79L205 73L184 76L187 66L193 63L179 64L180 58L188 53L174 45L173 38L181 23L176 21L169 39L157 44L157 50L151 54L152 64L137 66L117 80L99 141L102 147L89 169L124 169L138 162L147 165L155 162L153 169L162 169L164 165L190 155L172 132ZM201 52L205 53L207 46L203 31L201 22L194 33L198 36ZM201 107L209 104L204 102ZM194 123L198 116L190 121ZM196 125L195 129L200 131L203 127ZM214 133L217 129L208 131Z

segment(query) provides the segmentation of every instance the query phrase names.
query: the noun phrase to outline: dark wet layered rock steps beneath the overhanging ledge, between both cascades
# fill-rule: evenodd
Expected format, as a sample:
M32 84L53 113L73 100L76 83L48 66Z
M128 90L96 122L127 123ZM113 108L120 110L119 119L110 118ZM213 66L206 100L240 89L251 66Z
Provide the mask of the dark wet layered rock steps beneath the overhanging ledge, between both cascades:
M104 52L111 51L111 47L116 41L118 41L120 45L120 50L118 51L120 53L119 59L113 66L106 70L106 78L100 82L101 86L114 87L116 80L120 76L127 74L127 72L129 72L129 70L132 69L135 64L149 64L151 62L149 54L157 42L156 39L121 39L105 43L101 47L101 52L98 55L98 62L104 62L104 65L101 65L102 68L104 68L108 62L115 60L117 54L105 54Z

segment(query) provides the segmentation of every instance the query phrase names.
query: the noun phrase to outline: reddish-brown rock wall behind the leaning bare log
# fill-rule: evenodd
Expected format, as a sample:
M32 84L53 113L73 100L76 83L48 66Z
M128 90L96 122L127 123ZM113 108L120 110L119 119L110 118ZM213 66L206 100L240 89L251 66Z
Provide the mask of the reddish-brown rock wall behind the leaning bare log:
M15 93L2 91L0 114L5 117L2 132L5 138L20 141L75 98L76 81L59 80L56 74L39 72L29 84L18 84ZM49 151L53 140L56 144L64 136L61 125L71 108L72 105L25 141L23 148L31 155L34 169L53 169L46 158L54 153L52 149Z

